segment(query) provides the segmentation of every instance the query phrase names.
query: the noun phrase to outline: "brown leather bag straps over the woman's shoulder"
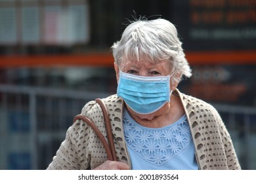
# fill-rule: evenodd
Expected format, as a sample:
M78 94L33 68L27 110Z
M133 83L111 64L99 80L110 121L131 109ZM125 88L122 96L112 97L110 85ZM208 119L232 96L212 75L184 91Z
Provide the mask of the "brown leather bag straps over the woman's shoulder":
M104 102L101 99L95 99L95 101L96 101L96 103L98 103L98 105L100 106L100 108L103 112L104 123L105 123L105 127L106 127L106 135L107 135L108 142L106 141L104 135L100 132L98 127L96 127L96 125L89 118L87 118L86 116L83 116L81 114L76 115L74 120L73 120L73 123L75 123L77 120L82 120L83 122L88 124L95 131L96 135L98 136L98 138L102 142L102 144L103 144L103 146L106 150L108 160L117 161L114 139L113 139L111 124L110 124L110 118L108 116L108 110L106 108L106 105L104 104Z

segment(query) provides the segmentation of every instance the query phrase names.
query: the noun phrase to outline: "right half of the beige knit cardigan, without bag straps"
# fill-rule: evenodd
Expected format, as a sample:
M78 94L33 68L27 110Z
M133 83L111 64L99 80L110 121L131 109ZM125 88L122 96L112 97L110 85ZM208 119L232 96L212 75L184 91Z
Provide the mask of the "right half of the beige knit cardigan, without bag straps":
M232 140L217 110L204 101L179 93L200 169L241 169Z

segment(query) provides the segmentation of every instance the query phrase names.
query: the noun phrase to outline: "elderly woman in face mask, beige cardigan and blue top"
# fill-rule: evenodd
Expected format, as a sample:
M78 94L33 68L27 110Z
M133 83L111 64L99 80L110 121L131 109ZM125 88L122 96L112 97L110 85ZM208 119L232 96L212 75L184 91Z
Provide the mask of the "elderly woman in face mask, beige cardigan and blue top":
M117 161L77 120L48 169L240 169L217 110L177 86L192 75L177 29L161 18L131 22L112 46L117 94L108 109ZM106 133L95 101L81 114Z

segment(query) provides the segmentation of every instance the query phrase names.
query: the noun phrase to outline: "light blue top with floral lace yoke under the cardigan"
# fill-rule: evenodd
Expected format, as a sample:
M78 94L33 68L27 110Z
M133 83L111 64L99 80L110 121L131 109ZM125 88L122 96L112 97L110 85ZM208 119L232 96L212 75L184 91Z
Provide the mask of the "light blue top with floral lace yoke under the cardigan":
M185 115L166 127L148 128L137 124L125 110L123 124L134 170L198 169Z

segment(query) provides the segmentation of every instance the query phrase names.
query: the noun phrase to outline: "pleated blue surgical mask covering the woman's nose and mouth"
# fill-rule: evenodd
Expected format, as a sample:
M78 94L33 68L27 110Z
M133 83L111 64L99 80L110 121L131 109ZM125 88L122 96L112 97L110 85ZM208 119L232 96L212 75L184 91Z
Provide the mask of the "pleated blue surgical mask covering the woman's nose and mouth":
M117 95L139 114L156 112L170 101L169 76L137 76L120 71Z

